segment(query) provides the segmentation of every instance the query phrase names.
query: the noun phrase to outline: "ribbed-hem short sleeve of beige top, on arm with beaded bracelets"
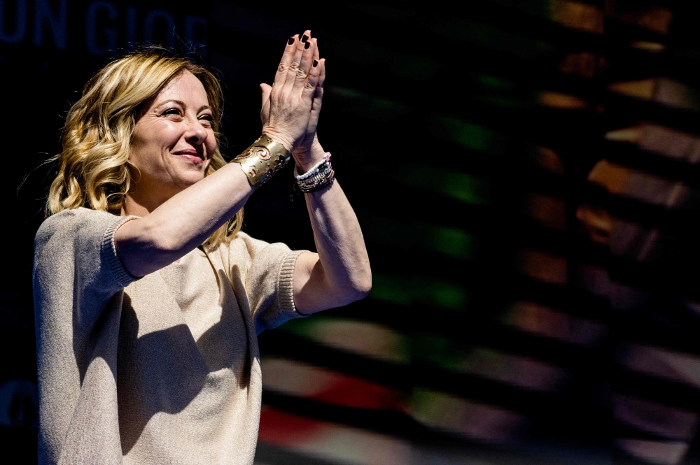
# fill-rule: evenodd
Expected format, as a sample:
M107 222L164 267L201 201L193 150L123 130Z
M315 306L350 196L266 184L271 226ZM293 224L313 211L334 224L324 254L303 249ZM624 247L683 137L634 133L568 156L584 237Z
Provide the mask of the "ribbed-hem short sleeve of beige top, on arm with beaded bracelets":
M294 266L303 250L290 250L283 243L259 241L244 233L239 233L237 240L244 243L248 255L244 284L258 334L306 316L294 306L292 287ZM235 257L231 262L237 262Z

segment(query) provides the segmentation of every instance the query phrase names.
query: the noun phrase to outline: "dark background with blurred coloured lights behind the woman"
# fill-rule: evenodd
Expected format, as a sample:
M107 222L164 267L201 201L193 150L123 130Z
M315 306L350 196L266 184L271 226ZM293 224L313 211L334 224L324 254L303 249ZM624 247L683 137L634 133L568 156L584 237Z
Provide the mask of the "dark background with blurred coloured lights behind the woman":
M311 28L319 136L373 288L260 334L255 463L700 464L688 3L0 0L1 461L36 462L43 162L87 79L141 43L191 54L225 84L233 157L260 131L258 84ZM291 169L244 231L314 250Z

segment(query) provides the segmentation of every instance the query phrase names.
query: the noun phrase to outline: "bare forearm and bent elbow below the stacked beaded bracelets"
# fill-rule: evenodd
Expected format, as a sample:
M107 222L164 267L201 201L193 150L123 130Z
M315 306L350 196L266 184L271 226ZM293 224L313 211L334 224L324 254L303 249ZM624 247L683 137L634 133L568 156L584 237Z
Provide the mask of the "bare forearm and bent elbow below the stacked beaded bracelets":
M313 313L362 299L370 291L372 274L360 224L348 199L337 182L304 196L318 259L302 259L301 269L295 269L297 309Z

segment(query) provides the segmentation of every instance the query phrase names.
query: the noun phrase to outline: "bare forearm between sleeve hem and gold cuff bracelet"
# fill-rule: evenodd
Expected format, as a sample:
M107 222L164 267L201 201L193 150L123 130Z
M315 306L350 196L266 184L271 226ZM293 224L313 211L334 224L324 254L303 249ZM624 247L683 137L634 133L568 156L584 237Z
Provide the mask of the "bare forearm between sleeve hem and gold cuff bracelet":
M253 189L237 163L191 185L115 234L119 257L134 276L146 276L204 243L240 210Z

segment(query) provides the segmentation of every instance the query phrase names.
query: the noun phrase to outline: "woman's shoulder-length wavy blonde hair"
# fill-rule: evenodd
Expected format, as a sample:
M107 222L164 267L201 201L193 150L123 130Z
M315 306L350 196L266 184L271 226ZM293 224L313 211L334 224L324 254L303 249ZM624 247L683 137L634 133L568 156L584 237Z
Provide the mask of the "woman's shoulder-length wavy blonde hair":
M92 208L119 215L132 173L129 148L143 104L183 71L204 85L214 115L216 150L207 176L226 164L219 150L218 129L223 113L223 92L216 76L204 67L167 50L148 48L119 58L95 74L66 116L58 173L51 183L46 214L72 208ZM209 236L205 245L231 241L241 229L243 210Z

